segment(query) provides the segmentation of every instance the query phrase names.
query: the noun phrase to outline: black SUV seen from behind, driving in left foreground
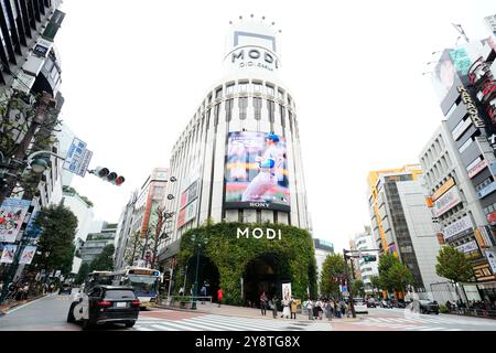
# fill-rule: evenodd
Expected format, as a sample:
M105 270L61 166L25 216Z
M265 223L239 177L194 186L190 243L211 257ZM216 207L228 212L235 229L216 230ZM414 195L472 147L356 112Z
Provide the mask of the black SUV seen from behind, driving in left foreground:
M80 292L71 304L67 322L83 322L83 329L104 323L123 323L132 328L138 320L140 301L131 287L93 287Z

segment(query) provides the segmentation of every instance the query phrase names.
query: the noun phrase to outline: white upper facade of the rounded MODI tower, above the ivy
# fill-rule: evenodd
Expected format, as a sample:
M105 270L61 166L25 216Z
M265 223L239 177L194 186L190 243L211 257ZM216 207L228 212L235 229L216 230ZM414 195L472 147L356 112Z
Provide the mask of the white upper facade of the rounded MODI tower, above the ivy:
M266 22L231 23L225 76L206 93L173 147L170 168L177 182L169 183L174 199L165 200L165 208L175 212L169 255L187 229L208 218L310 227L295 105L279 78L279 32ZM269 135L277 136L274 159L281 163L280 173L266 174L276 191L263 194L261 186L250 194Z

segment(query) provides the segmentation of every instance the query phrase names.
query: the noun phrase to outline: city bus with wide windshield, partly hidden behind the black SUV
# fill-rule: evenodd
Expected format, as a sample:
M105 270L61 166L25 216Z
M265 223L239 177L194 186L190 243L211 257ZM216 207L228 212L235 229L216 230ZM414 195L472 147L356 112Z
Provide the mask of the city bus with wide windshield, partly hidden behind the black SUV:
M127 267L111 272L114 286L129 286L140 300L140 307L152 307L159 301L160 271L143 267Z

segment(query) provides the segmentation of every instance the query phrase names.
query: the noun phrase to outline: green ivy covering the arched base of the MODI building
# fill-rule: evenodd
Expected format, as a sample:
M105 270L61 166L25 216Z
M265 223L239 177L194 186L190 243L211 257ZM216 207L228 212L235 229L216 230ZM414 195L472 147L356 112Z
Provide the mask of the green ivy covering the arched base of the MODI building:
M250 229L270 227L278 232L282 231L282 238L256 239L254 237L237 238L237 228ZM181 250L179 254L179 266L185 268L190 259L195 256L192 235L207 239L204 255L217 267L220 287L224 290L226 303L241 303L241 282L246 266L250 260L265 254L274 254L280 263L280 269L291 278L291 288L294 298L306 298L308 290L312 297L316 297L316 263L314 257L313 240L310 234L293 226L282 224L246 224L222 222L213 224L212 220L205 225L187 231L181 238ZM184 277L183 277L184 278ZM177 278L183 284L183 278ZM180 286L177 286L179 288Z

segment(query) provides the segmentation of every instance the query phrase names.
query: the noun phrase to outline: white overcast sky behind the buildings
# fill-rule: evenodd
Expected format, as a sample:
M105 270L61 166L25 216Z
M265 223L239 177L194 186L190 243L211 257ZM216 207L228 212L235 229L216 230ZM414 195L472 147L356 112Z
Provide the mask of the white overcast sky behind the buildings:
M239 15L282 31L280 76L296 104L314 237L336 250L369 225L367 173L418 163L440 125L425 64L455 44L488 36L492 1L65 0L55 42L63 119L94 152L94 175L73 186L117 222L132 190L171 149L222 77L225 35ZM463 43L463 41L460 41Z

